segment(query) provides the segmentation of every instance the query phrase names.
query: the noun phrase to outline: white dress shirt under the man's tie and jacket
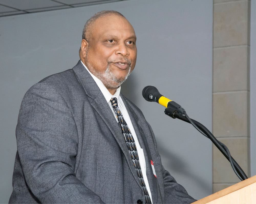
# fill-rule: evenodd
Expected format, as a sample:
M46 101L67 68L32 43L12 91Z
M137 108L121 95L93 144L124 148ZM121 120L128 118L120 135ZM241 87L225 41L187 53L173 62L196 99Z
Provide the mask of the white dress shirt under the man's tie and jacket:
M139 159L140 159L140 165L141 165L141 171L142 171L142 175L143 175L143 179L144 179L144 182L145 182L145 185L147 187L147 191L148 191L148 194L150 196L150 199L152 201L152 196L151 196L151 192L150 192L150 188L149 188L149 184L148 184L148 180L147 180L147 174L146 174L146 161L145 161L145 157L144 157L144 152L143 152L143 149L141 148L140 146L140 143L138 141L138 138L136 136L136 133L134 131L134 128L133 128L133 125L132 125L132 121L130 119L130 116L124 106L124 103L123 103L123 100L120 96L120 90L121 90L121 86L116 90L115 94L112 95L108 89L104 86L104 84L101 82L101 80L99 80L97 77L95 77L89 70L88 68L84 65L84 63L81 61L81 63L83 64L83 66L86 68L86 70L89 72L89 74L92 76L92 78L94 79L94 81L96 82L96 84L98 85L98 87L100 88L103 96L105 97L106 101L108 102L109 104L109 107L110 109L112 110L113 114L114 114L114 117L116 119L116 121L118 122L118 119L116 118L116 114L114 112L114 109L110 103L110 99L111 98L117 98L117 103L118 103L118 107L124 117L124 120L125 122L127 123L131 133L132 133L132 136L133 136L133 139L134 139L134 142L135 142L135 145L136 145L136 148L137 148L137 152L138 152L138 156L139 156ZM120 129L121 131L121 129Z

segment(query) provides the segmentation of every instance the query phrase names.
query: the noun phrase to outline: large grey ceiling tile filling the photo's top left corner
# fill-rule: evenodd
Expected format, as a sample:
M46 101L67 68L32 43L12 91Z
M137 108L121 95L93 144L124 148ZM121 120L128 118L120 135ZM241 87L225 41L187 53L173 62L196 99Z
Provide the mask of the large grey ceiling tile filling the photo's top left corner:
M51 0L1 0L1 4L20 10L61 6L63 4Z

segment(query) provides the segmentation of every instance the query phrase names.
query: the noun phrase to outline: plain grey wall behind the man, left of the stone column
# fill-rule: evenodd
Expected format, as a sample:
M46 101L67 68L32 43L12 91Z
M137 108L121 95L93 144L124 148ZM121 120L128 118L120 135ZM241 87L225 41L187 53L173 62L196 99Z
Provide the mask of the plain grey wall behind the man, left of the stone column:
M131 0L0 18L0 202L8 202L21 100L42 78L78 61L82 28L95 12L120 11L137 35L137 64L122 92L151 124L163 165L188 193L212 193L212 145L188 123L164 114L141 91L153 85L212 129L212 1Z

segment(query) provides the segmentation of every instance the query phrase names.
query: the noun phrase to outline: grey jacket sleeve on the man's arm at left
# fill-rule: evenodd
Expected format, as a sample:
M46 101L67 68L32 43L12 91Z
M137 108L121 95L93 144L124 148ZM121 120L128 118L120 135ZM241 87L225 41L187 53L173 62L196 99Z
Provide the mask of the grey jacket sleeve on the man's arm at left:
M103 203L75 175L77 127L55 88L38 83L28 90L16 138L25 181L41 203Z

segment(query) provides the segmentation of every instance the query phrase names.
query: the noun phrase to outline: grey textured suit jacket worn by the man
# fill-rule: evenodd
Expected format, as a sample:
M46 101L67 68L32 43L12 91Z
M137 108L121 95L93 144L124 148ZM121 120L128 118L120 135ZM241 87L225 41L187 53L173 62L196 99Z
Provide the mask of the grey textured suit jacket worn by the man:
M141 110L121 97L144 150L153 203L195 201L163 168ZM145 202L120 127L80 60L27 91L16 138L10 203Z

